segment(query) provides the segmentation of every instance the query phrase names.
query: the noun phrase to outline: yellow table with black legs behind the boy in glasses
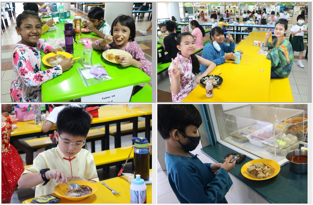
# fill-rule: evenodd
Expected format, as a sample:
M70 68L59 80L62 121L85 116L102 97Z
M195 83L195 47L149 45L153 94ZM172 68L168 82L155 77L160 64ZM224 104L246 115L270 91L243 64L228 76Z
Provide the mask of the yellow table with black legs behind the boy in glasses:
M126 106L103 106L100 107L99 117L93 118L90 127L96 126L105 126L105 136L110 136L109 134L109 125L116 123L116 139L118 140L119 146L121 147L121 122L132 121L133 122L133 136L137 136L138 134L138 116L145 115L145 112L139 112L137 110L127 108ZM151 108L152 112L152 108ZM150 123L150 121L149 121ZM14 139L23 139L28 137L35 137L45 134L52 134L56 129L56 125L54 125L48 133L44 133L41 130L42 125L35 125L35 121L26 121L26 122L18 122L16 123L18 128L14 129L11 132L11 136ZM149 125L150 128L150 125ZM149 131L150 133L150 131ZM109 149L109 137L104 137L101 139L102 150Z

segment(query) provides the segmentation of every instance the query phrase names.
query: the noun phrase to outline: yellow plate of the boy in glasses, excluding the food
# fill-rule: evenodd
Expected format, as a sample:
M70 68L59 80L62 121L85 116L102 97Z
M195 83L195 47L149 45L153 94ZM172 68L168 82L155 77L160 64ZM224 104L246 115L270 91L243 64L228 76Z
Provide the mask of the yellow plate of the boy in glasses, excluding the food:
M66 197L65 196L65 192L67 192L67 188L69 187L69 185L67 185L66 183L64 184L58 184L54 189L54 193L56 195L58 195L59 197L63 197L63 198L66 198L68 200L72 200L72 201L78 201L78 200L81 200L81 199L84 199L84 198L87 198L91 195L93 195L96 191L97 191L97 186L94 184L94 183L91 183L91 182L85 182L85 181L69 181L69 183L77 183L79 185L87 185L89 187L92 188L92 193L90 193L89 195L86 195L86 196L82 196L82 197Z

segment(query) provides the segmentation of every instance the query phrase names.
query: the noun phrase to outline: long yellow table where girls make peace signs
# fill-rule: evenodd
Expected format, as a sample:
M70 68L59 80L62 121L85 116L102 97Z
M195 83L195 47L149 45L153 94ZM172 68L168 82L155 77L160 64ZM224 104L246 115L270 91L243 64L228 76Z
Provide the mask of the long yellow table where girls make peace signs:
M222 73L223 78L221 87L214 87L212 98L206 96L205 87L199 84L182 102L269 102L271 61L257 54L257 46L241 43L237 49L243 51L239 64L226 60L210 73Z

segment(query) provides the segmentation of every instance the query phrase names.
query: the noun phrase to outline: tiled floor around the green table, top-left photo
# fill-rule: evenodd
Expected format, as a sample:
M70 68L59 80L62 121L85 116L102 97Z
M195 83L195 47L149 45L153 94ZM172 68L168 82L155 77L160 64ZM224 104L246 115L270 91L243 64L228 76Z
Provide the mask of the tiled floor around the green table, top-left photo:
M16 13L13 16L13 19L8 19L9 26L6 27L5 31L1 32L1 102L10 102L10 85L12 82L13 70L12 70L12 55L14 44L21 40L21 37L17 35L15 26L16 26L16 17L18 14L23 12L23 3L16 4ZM74 15L80 13L83 15L83 18L87 16L85 12L74 8L74 4L71 5L71 14ZM87 18L88 20L88 18ZM139 18L134 17L136 23L136 37L135 40L141 46L142 51L145 53L145 58L148 61L152 61L152 30L150 30L146 36L142 35L139 30L146 30L150 25L150 21L147 17ZM152 86L152 81L148 83Z

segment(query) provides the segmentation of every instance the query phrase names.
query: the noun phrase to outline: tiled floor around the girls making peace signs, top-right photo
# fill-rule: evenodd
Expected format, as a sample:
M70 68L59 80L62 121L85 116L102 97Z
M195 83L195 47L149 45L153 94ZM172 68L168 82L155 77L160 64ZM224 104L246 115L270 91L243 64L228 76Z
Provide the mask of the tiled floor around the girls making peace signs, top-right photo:
M229 45L229 42L225 43ZM305 51L302 57L302 63L304 65L304 68L300 68L297 65L299 52L295 52L294 64L292 65L291 73L289 75L289 82L294 102L308 102L308 59L304 58L305 53L306 53L306 43ZM195 81L196 79L197 76L195 77ZM164 71L161 74L157 75L157 90L158 90L157 95L158 102L172 102L171 83L167 71Z

